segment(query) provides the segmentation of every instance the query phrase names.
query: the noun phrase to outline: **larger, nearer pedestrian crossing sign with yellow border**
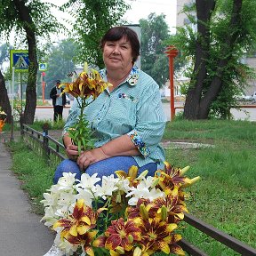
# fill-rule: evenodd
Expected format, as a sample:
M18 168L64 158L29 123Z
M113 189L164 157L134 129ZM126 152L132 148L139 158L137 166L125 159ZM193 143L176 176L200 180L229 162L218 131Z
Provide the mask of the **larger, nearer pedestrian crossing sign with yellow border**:
M28 50L10 50L10 67L15 72L28 72Z

